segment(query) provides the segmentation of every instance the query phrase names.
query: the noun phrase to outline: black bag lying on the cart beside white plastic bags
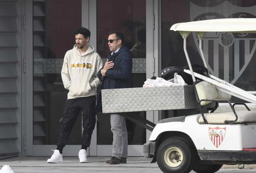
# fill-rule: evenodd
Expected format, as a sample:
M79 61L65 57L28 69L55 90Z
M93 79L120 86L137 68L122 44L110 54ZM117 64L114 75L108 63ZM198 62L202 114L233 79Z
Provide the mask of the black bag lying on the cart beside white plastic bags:
M163 79L168 81L174 78L175 73L178 73L178 75L180 75L188 85L192 85L193 84L192 76L190 74L185 73L183 71L184 69L189 70L189 66L187 65L185 67L175 67L175 66L166 67L160 72L159 77L162 77ZM202 67L201 65L194 64L192 65L192 69L194 72L204 76L208 74L208 69L206 69L205 67Z

